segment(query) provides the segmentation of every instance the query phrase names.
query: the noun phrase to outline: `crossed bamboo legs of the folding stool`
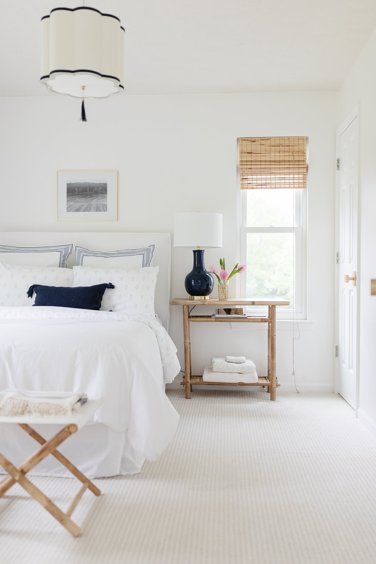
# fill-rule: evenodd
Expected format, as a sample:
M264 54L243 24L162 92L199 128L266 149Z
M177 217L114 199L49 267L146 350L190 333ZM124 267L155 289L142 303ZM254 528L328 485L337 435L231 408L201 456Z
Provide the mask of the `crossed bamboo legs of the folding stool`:
M49 513L51 513L52 517L55 517L63 527L70 532L71 535L74 537L78 536L81 532L81 529L72 521L70 516L72 515L74 509L76 509L83 493L88 488L94 495L99 496L100 490L94 486L94 484L86 478L84 474L79 472L79 470L69 462L68 459L65 458L61 454L61 452L57 451L57 447L64 442L65 439L70 437L73 433L77 431L77 425L66 425L59 433L56 433L54 437L50 440L43 439L41 435L37 433L34 429L32 429L29 425L24 423L18 424L21 429L24 429L26 433L30 435L33 439L35 439L39 444L41 444L41 448L39 448L32 456L29 456L28 459L25 460L18 468L16 468L9 460L6 459L0 453L0 465L6 470L9 476L0 482L0 497L2 497L6 491L9 490L16 482L20 484L21 487L26 490L30 494L30 496L34 497L38 503L40 503ZM39 462L46 458L51 454L54 456L65 468L69 470L76 478L82 482L82 487L78 491L77 495L74 497L72 504L70 504L69 509L67 512L61 511L41 490L39 490L28 478L25 477L30 470L32 470Z

